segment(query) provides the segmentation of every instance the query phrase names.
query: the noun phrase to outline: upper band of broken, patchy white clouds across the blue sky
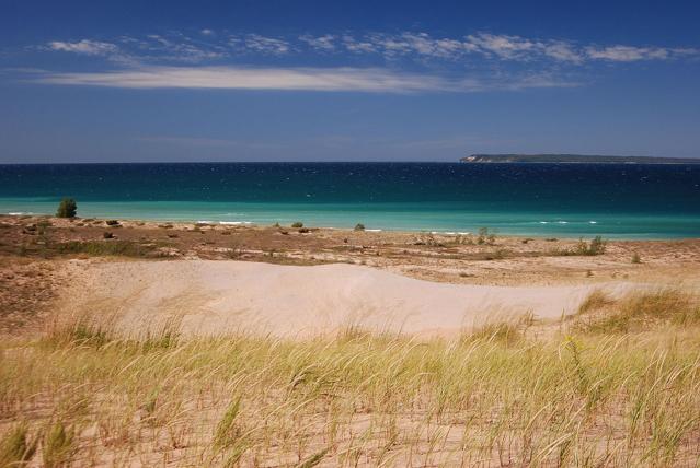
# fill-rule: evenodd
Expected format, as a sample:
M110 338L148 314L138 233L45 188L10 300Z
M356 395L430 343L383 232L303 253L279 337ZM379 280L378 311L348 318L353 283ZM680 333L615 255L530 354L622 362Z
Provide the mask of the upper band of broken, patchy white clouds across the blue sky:
M103 56L113 61L149 63L213 62L238 56L301 57L321 52L345 54L349 58L374 56L386 60L406 58L464 63L495 60L575 66L592 61L670 60L700 55L700 50L692 47L595 45L485 32L461 37L439 37L425 32L269 37L261 34L231 34L209 28L196 32L194 38L172 32L142 37L123 36L112 42L89 38L77 42L54 40L48 43L44 50Z

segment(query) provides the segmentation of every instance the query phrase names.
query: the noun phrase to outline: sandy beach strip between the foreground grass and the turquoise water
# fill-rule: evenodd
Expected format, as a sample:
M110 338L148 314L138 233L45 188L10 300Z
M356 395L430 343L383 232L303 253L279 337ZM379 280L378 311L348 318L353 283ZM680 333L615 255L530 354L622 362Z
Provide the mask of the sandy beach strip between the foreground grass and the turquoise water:
M527 314L552 323L596 290L700 282L693 239L575 255L578 239L107 221L3 218L5 330L100 309L125 332L446 337Z

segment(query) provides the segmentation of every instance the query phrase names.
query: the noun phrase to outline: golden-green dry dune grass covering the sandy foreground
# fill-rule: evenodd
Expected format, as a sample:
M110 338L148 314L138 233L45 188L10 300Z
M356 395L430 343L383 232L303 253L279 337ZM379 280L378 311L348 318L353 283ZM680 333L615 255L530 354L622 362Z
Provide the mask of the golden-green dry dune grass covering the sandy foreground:
M695 466L700 328L693 318L653 329L646 318L689 317L692 301L679 294L607 305L641 320L639 334L541 339L527 320L431 341L356 327L303 341L183 340L168 329L136 340L80 320L0 343L0 459Z

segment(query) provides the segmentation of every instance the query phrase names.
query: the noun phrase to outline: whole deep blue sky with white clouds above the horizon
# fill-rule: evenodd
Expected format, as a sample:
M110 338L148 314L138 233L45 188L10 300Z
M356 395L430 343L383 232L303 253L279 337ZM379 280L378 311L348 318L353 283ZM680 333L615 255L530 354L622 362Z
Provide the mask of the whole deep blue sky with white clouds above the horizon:
M0 2L0 163L700 157L696 1Z

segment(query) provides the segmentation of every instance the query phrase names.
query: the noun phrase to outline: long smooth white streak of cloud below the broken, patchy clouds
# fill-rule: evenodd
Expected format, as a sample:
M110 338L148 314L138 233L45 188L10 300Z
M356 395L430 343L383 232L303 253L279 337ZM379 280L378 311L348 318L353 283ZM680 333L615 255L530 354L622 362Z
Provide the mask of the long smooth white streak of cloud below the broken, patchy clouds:
M248 68L248 67L139 67L105 72L35 74L30 81L45 84L127 89L219 89L346 91L376 93L480 92L576 85L548 74L493 78L444 78L397 72L381 68Z

